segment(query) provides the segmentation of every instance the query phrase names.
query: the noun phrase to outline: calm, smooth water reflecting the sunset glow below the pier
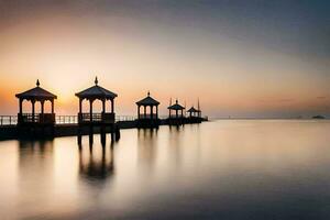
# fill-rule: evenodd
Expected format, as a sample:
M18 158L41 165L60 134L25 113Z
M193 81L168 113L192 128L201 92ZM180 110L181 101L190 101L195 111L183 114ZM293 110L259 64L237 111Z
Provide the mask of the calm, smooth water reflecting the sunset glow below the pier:
M0 142L0 219L330 219L330 121ZM108 141L109 142L109 141Z

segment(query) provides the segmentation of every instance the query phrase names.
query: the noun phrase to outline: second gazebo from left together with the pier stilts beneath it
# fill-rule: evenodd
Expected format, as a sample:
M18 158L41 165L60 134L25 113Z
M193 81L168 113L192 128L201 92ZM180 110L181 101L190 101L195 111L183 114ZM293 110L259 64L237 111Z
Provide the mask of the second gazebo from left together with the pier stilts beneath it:
M100 129L101 143L105 144L107 140L107 132L110 132L111 140L119 139L119 128L114 123L114 98L117 94L109 91L98 85L98 78L95 79L95 86L76 94L79 98L79 113L78 113L78 144L81 144L81 130L89 129L89 142L94 142L95 128ZM89 101L89 112L82 112L84 99ZM94 113L92 103L96 100L102 101L102 112ZM110 100L111 112L106 111L106 102Z

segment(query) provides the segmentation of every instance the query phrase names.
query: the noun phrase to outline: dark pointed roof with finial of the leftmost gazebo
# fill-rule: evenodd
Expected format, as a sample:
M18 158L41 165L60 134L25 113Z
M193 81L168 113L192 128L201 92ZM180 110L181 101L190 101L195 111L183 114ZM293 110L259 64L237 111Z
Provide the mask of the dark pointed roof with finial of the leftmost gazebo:
M40 81L36 80L36 87L33 89L30 89L28 91L21 92L21 94L16 94L15 95L16 98L19 99L57 99L57 96L55 96L54 94L43 89L40 87Z

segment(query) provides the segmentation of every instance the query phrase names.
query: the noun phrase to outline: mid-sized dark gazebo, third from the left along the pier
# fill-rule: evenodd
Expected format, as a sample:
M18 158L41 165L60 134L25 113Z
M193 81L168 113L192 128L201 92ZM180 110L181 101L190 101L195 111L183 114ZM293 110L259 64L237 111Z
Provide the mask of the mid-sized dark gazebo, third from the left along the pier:
M136 102L138 106L138 120L139 121L153 121L158 120L158 106L160 102L153 99L147 92L147 97ZM143 107L143 113L141 113L141 107ZM156 112L154 113L154 107L156 108ZM147 108L150 108L150 113L147 114Z

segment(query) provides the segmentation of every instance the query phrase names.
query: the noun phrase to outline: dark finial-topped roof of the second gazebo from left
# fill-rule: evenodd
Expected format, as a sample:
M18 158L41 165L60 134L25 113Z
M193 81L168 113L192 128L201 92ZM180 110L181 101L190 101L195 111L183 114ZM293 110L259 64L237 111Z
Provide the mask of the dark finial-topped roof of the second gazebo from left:
M103 87L98 86L98 78L95 79L95 86L85 89L80 92L76 94L77 97L82 99L88 98L106 98L106 99L114 99L118 97L117 94L109 91L108 89L105 89Z

